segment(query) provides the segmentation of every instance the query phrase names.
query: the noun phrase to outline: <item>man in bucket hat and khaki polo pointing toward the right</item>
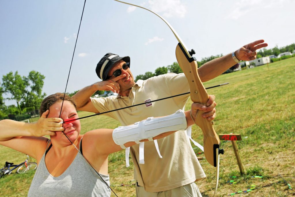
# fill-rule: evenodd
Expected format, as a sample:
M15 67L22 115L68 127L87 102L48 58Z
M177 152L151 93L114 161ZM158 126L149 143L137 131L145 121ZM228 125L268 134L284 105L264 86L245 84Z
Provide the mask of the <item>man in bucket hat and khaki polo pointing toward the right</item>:
M264 40L257 40L204 64L198 69L201 81L206 82L219 76L239 60L255 59L255 51L267 46L263 42ZM186 77L183 73L168 73L135 83L128 56L119 57L107 53L97 64L96 74L103 81L87 86L73 96L77 102L77 109L100 113L146 102L145 105L106 114L118 120L123 126L183 109L189 99L189 95L183 95L150 103L151 100L189 92ZM111 90L118 95L91 98L97 90ZM209 121L215 118L214 98L210 95L207 106L202 105L200 108L205 112L203 117ZM177 132L158 140L158 145L163 158L156 156L158 153L155 147L149 147L149 151L144 154L145 164L141 164L139 145L130 148L135 167L134 177L137 180L137 196L201 196L194 181L206 175L194 154L186 132ZM154 143L149 141L145 146L154 146Z

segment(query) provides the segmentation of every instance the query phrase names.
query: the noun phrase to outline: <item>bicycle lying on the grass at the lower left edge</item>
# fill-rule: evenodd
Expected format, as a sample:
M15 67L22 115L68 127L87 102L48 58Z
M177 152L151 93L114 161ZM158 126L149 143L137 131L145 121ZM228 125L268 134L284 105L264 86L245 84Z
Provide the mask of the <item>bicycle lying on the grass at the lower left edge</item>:
M3 168L0 169L0 178L4 175L10 175L12 173L12 170L16 169L17 167L17 173L23 174L25 172L28 172L30 170L35 170L37 168L36 162L28 162L30 160L29 155L27 155L27 159L22 162L19 165L15 165L10 162L5 162L5 165Z

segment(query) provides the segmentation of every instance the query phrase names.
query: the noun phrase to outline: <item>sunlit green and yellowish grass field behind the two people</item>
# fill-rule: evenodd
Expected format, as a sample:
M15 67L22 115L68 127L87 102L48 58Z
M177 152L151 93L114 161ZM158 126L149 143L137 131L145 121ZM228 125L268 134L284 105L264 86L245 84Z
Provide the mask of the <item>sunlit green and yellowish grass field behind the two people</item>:
M227 196L237 191L255 188L235 196L292 196L295 188L295 58L278 61L253 69L224 74L206 82L205 87L230 82L229 85L209 89L216 96L218 134L240 133L237 141L245 174L240 175L232 144L222 141L224 155L220 161L220 180L216 196ZM190 108L191 102L186 108ZM83 117L90 113L79 112ZM94 128L119 126L105 116L81 120L82 133ZM193 138L203 144L201 130L193 126ZM199 152L195 149L196 153ZM163 155L165 157L165 155ZM204 157L204 154L198 154ZM0 166L5 161L19 163L24 154L0 146ZM207 175L196 182L203 196L213 196L215 168L201 160ZM26 196L34 173L7 175L0 179L0 196ZM135 196L133 166L125 167L124 151L109 156L111 187L118 196ZM232 177L234 176L234 177ZM255 178L253 176L263 176ZM231 181L235 182L230 184ZM272 184L273 183L273 184ZM287 185L289 183L292 190ZM125 184L125 186L119 186ZM272 185L270 185L272 184ZM255 186L251 186L255 185ZM114 196L112 194L111 196Z

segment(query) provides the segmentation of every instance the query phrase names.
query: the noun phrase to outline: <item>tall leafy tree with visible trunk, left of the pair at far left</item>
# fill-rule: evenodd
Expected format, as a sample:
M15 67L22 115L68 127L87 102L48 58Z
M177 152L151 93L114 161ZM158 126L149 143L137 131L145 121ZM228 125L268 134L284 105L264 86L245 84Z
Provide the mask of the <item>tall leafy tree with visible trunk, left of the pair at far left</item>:
M4 88L4 92L10 93L11 97L7 98L9 100L15 100L17 102L17 108L19 113L22 114L22 109L20 107L20 101L24 97L24 93L26 92L26 88L29 83L25 77L22 77L16 71L13 75L12 72L9 72L2 77L2 87Z

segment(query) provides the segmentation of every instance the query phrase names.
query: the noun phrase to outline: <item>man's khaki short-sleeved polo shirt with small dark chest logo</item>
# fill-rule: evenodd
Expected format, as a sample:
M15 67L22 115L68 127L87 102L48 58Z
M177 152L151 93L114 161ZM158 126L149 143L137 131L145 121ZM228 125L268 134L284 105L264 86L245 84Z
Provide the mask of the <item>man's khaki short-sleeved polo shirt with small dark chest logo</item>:
M185 92L189 92L185 75L168 73L145 81L138 80L130 90L129 97L117 95L91 98L91 101L99 112L146 102L145 105L105 114L126 126L148 117L170 115L179 109L184 110L189 94L152 103L149 101ZM135 167L134 178L146 191L166 191L206 177L186 131L178 131L157 141L163 158L159 158L154 142L148 141L144 147L145 164L139 164L139 145L130 147Z

